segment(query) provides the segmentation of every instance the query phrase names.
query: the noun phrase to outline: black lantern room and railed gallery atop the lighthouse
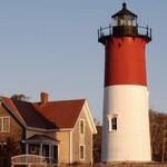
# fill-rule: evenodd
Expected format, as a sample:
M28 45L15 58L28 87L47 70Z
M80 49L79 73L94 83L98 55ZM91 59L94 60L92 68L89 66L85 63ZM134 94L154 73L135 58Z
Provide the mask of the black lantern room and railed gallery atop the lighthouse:
M106 43L110 37L141 37L149 42L151 40L151 29L138 26L137 14L127 9L122 3L122 9L116 12L112 18L112 26L100 28L98 30L98 41Z

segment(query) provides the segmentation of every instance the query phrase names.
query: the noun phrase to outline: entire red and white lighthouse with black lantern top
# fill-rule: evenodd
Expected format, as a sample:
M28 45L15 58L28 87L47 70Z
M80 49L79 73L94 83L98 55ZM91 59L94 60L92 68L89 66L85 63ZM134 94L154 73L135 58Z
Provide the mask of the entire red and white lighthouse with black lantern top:
M124 2L112 26L98 30L105 46L104 163L151 160L146 71L151 29L137 18Z

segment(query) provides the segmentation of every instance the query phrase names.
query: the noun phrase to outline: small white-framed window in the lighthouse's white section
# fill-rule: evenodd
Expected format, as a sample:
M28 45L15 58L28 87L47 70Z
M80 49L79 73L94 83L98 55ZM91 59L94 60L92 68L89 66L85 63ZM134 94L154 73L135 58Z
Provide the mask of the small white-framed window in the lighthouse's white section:
M117 130L117 115L108 115L108 129L109 131L116 131Z

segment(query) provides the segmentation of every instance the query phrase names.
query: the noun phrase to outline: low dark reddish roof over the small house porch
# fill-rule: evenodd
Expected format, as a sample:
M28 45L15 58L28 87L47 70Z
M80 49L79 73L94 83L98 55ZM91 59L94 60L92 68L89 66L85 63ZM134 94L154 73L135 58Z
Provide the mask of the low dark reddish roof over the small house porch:
M24 144L51 144L57 145L59 144L59 140L51 138L46 135L33 135L30 138L22 140Z

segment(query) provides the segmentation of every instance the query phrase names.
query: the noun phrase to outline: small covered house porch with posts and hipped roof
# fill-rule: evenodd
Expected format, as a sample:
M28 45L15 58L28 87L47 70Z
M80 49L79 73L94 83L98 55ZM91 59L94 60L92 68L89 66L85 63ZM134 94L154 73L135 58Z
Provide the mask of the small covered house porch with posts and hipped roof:
M47 164L58 164L58 140L45 135L35 135L22 143L26 145L26 155L39 155L45 157Z

